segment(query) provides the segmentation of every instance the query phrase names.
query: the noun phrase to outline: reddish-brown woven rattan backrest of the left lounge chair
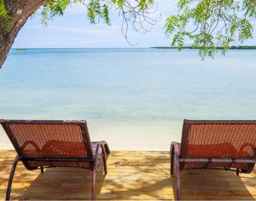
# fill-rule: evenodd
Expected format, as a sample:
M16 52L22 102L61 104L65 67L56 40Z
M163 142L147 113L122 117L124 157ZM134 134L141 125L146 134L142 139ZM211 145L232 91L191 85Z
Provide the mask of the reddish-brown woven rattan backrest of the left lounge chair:
M86 121L0 121L23 158L93 158Z

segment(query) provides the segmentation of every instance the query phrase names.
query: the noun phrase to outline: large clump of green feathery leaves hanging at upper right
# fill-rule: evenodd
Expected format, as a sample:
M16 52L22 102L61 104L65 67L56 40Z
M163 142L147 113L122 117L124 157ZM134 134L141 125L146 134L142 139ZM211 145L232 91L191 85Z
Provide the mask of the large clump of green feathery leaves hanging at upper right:
M200 47L200 56L213 57L216 47L222 52L232 43L241 44L252 38L256 18L255 0L179 0L179 13L166 19L166 35L173 34L172 45L182 48L184 38ZM193 27L189 31L189 26Z

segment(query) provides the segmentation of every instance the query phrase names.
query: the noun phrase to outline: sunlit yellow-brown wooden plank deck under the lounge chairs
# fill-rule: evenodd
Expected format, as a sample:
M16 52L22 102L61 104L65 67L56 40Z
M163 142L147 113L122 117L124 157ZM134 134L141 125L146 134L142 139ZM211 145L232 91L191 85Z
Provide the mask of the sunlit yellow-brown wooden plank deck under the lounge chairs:
M4 199L14 151L0 151L0 200ZM113 151L109 174L97 176L97 199L173 200L175 181L170 177L168 152ZM184 200L255 200L256 170L240 174L225 170L181 172ZM13 179L11 199L90 200L91 172L79 168L48 168L29 171L21 162Z

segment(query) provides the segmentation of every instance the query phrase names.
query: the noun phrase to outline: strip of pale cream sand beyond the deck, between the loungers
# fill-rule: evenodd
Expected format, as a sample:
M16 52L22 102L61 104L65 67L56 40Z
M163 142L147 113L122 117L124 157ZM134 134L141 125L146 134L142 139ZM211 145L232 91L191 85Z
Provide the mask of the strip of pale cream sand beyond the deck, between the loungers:
M182 123L99 123L88 121L91 140L106 140L112 150L169 151L173 140L180 141ZM0 128L0 149L13 149Z

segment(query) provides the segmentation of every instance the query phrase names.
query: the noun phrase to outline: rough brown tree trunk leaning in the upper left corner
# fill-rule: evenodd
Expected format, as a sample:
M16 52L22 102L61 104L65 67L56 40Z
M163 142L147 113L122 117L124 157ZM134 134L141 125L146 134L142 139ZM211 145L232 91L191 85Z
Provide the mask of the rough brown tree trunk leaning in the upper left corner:
M42 4L51 0L6 0L5 8L11 15L11 29L0 27L0 68L3 66L20 28Z

